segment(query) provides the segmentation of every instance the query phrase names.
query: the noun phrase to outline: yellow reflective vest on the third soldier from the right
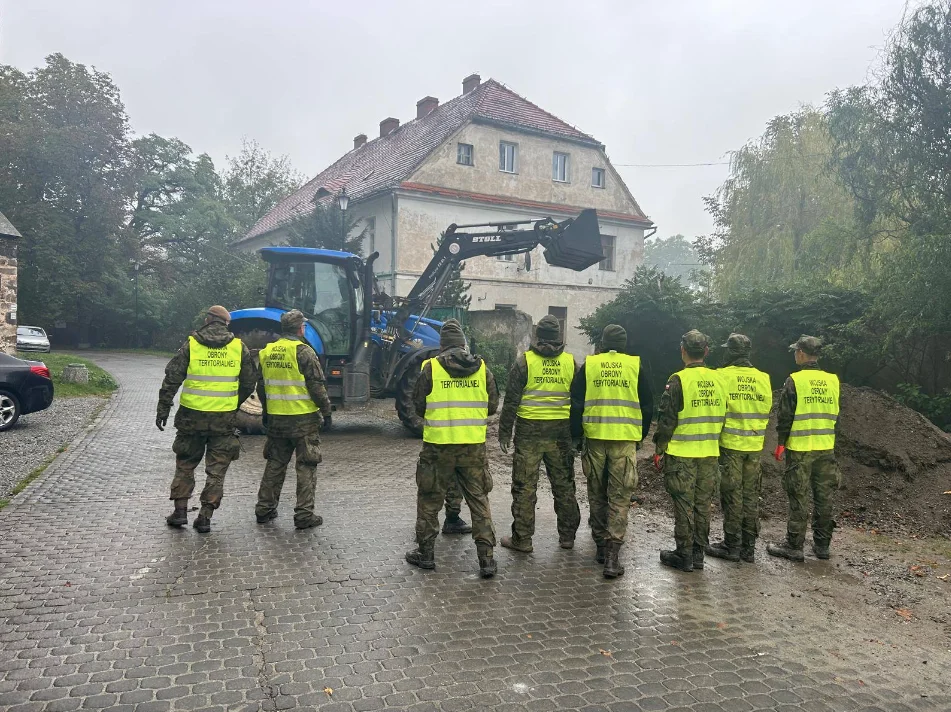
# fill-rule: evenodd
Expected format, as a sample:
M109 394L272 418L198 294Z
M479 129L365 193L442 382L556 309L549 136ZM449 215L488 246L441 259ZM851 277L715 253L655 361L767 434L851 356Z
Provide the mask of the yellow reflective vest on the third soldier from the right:
M678 371L684 408L677 414L677 427L667 444L675 457L716 457L720 454L720 431L726 416L726 395L720 376L706 366Z

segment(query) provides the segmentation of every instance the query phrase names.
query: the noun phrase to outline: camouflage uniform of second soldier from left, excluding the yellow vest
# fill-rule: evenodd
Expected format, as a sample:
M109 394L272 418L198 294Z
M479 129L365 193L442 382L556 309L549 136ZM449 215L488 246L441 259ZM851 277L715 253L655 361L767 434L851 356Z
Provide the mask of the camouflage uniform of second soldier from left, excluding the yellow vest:
M283 321L282 319L282 324ZM299 324L297 326L299 327ZM296 328L293 327L294 324L291 324L289 329L285 328L282 338L299 341ZM284 487L287 465L291 456L296 454L294 469L297 473L297 506L294 507L294 525L298 529L306 529L322 521L314 514L314 498L317 465L323 459L320 454L320 426L324 416L330 415L331 405L320 361L314 350L305 343L300 343L297 347L297 365L304 376L311 400L320 410L302 415L267 415L267 442L264 444L267 465L258 489L254 513L261 523L277 516L277 505ZM267 413L263 373L258 379L258 398Z

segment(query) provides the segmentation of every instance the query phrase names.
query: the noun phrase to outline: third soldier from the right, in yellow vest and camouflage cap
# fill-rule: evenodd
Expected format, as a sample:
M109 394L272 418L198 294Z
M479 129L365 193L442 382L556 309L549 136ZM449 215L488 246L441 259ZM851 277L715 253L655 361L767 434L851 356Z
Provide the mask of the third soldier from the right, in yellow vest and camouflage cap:
M705 334L683 335L684 369L667 381L654 431L654 466L663 467L664 486L674 500L677 548L660 552L660 562L681 571L703 568L710 536L710 500L717 484L720 431L726 393L717 372L707 368Z

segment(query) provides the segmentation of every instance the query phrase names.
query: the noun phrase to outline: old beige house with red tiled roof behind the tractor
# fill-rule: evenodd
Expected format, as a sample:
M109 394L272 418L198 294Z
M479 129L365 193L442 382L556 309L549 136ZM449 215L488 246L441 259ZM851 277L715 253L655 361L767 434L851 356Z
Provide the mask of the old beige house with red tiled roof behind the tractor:
M557 316L569 345L586 348L578 320L611 300L642 261L652 222L611 165L602 143L508 87L478 75L445 104L427 96L405 124L387 118L379 136L353 148L265 215L239 241L256 250L280 244L286 226L313 201L349 196L348 215L367 228L364 254L379 251L386 291L405 296L451 223L573 217L597 208L604 260L584 272L551 267L541 250L466 263L471 309L519 309L537 321Z

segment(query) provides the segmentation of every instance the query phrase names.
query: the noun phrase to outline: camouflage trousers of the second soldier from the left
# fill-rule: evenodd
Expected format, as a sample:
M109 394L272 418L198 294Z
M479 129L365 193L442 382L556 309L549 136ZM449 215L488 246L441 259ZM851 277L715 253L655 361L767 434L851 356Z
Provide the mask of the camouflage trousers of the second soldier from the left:
M258 488L258 502L254 513L261 517L277 509L287 476L287 465L295 456L294 470L297 474L297 505L294 507L294 524L306 526L314 519L314 499L317 489L317 465L320 455L320 436L317 433L293 437L267 436L264 443L264 476Z

